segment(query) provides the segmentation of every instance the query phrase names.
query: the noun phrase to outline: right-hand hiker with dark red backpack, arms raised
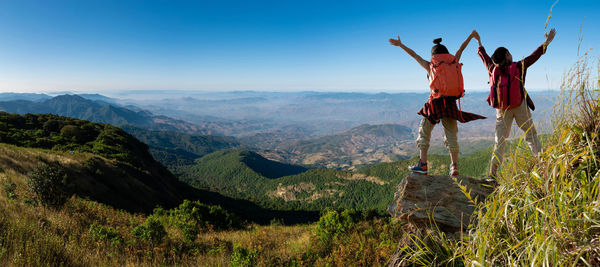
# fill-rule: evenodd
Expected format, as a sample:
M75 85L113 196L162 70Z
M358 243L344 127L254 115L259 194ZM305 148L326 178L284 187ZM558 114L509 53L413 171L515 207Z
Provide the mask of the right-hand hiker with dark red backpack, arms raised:
M527 68L546 53L546 48L554 39L555 34L556 30L550 30L548 34L545 34L546 41L531 55L521 61L513 62L512 55L504 47L498 47L490 58L481 44L479 34L474 31L473 37L479 43L477 54L483 60L490 78L490 95L487 102L496 109L496 138L494 154L492 154L490 162L489 182L496 182L496 172L502 163L504 145L510 134L513 119L525 132L525 140L533 154L537 155L541 152L542 146L529 111L530 108L535 110L535 106L525 90L525 75Z

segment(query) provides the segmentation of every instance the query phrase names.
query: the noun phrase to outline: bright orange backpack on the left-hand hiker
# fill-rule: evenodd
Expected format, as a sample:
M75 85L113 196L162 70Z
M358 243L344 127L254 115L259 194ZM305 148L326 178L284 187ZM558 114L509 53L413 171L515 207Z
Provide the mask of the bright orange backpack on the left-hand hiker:
M443 96L456 96L460 98L465 94L461 72L462 63L458 63L456 57L451 54L433 55L431 56L429 67L430 99Z

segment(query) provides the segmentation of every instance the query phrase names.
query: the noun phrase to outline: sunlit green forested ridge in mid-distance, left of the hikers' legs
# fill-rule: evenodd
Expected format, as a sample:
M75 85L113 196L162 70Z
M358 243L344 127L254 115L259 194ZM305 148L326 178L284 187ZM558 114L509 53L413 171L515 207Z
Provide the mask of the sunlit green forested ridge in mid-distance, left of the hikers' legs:
M464 175L482 177L489 151L460 160ZM381 163L361 171L308 169L267 160L246 150L211 153L175 173L200 189L219 192L277 210L348 208L385 210L412 160ZM448 156L432 155L431 172L447 175ZM257 164L259 163L259 164ZM279 170L274 174L274 170Z

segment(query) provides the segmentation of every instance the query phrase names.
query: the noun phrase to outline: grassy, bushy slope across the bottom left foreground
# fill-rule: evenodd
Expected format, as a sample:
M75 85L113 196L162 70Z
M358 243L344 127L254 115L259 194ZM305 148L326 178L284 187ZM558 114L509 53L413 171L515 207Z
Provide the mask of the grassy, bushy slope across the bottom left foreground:
M181 206L146 217L72 197L48 209L27 204L25 187L17 182L16 198L0 195L3 266L372 266L387 262L402 235L389 217L342 210L312 225L215 230L204 222L191 239L177 223Z

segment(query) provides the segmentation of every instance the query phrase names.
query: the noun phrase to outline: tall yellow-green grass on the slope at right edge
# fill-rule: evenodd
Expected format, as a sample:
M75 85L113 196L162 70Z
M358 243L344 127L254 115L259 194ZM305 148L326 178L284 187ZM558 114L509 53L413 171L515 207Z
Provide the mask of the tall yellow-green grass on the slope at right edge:
M594 70L597 68L597 70ZM554 131L537 157L524 137L499 186L455 240L415 235L399 265L600 265L600 63L588 53L563 78Z

